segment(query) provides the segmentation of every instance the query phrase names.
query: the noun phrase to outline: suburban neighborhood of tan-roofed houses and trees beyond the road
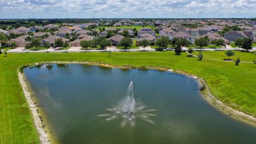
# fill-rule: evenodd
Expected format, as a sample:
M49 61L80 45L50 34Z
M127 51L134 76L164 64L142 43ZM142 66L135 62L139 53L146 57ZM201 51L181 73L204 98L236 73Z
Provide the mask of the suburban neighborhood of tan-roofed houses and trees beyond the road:
M139 49L139 42L143 39L149 41L149 47L157 47L156 41L161 37L169 38L170 42L176 38L186 39L191 45L195 45L196 39L200 38L207 38L209 45L214 45L216 39L222 39L223 48L230 47L229 44L234 47L236 39L242 38L250 38L256 43L256 25L250 19L98 19L87 23L44 24L30 21L27 25L20 25L18 22L15 27L3 27L0 33L9 39L4 46L11 47L10 52L15 47L19 47L17 50L22 50L21 47L23 50L27 49L25 47L31 44L31 39L37 39L41 43L36 45L41 47L39 50L45 49L45 43L50 44L50 49L61 50L61 46L55 44L57 39L67 41L68 49L77 47L73 48L76 50L82 49L82 41L91 42L97 38L106 38L111 46L118 46L124 37L131 38L134 45L132 49Z

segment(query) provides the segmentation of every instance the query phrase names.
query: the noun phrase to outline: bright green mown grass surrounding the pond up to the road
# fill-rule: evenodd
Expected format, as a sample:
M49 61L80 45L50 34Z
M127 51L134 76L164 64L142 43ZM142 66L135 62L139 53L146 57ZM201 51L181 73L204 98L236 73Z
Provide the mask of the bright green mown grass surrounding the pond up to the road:
M222 59L224 52L203 52ZM238 55L239 52L236 52ZM241 60L252 53L239 53ZM180 69L205 79L211 92L227 105L256 116L256 64L212 61L174 52L8 53L0 55L0 143L39 143L33 118L23 95L17 68L43 61L91 61L134 67L162 66ZM211 55L211 56L210 56ZM222 56L221 56L222 55ZM236 56L235 56L236 57ZM174 84L175 85L175 84Z

